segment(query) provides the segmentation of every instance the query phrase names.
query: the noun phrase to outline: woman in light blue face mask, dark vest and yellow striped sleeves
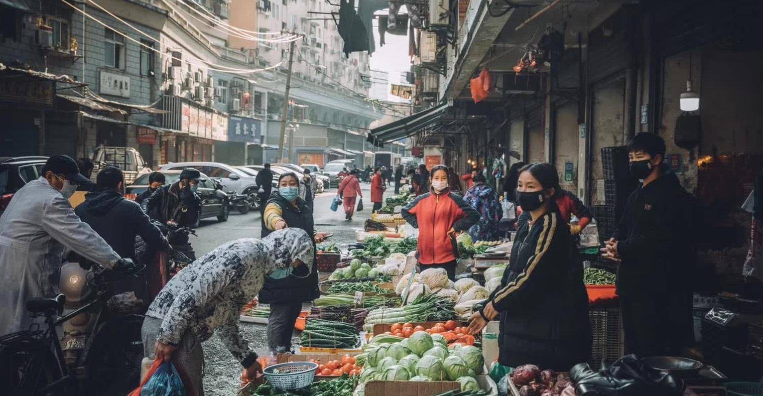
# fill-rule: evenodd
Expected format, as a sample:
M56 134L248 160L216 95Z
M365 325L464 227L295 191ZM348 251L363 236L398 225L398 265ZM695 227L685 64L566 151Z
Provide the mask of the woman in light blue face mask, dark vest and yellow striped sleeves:
M262 212L262 237L275 230L300 228L320 243L325 233L316 233L313 227L313 208L299 197L299 178L292 172L278 177L278 190L273 191ZM259 301L270 304L268 320L268 346L274 352L291 349L291 333L302 303L318 298L317 268L300 266L285 269L266 277L259 292Z

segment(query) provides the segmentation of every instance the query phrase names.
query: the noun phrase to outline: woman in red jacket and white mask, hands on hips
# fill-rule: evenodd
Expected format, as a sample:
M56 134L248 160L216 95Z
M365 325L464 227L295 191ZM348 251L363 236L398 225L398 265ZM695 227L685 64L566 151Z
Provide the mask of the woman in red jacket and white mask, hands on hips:
M407 204L402 214L408 224L419 229L420 269L443 268L448 278L454 280L459 258L456 232L468 230L477 223L479 212L460 195L450 192L445 166L433 167L431 175L430 192Z

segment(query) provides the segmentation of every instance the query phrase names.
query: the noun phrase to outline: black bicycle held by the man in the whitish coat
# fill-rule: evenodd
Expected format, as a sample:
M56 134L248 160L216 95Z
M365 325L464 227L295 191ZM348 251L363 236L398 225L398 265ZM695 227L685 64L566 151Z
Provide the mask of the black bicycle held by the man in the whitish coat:
M89 270L82 263L80 266ZM134 275L142 269L124 274ZM29 314L44 317L44 324L33 324L30 330L0 337L0 389L4 394L124 396L138 385L143 359L140 335L143 315L109 311L112 293L105 271L85 272L91 298L66 314L63 294L27 301ZM77 275L70 275L69 282L79 282L71 276ZM83 290L82 295L87 295L87 291ZM92 330L71 332L59 340L56 327L70 320L92 320Z

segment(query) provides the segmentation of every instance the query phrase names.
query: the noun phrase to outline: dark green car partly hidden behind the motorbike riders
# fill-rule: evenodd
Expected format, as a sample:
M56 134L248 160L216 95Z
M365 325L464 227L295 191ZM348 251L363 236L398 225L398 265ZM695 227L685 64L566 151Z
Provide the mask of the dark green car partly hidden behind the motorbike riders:
M172 184L178 181L182 171L180 169L162 169L159 172L164 174L166 184ZM128 185L125 188L124 198L135 200L138 195L146 191L149 184L148 177L148 173L140 175L133 184ZM198 182L198 190L196 190L196 194L201 198L201 213L199 213L198 218L217 217L218 221L227 221L228 214L230 214L228 195L220 191L219 188L215 188L214 180L210 179L208 175L201 173L201 179Z

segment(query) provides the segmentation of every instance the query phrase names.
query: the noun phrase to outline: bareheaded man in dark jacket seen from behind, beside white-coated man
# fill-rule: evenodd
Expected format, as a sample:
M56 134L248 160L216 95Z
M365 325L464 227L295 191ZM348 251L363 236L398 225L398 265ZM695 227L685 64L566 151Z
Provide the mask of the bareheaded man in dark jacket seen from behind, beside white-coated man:
M124 198L124 174L121 169L107 166L98 172L96 191L85 195L85 201L75 213L100 235L111 249L122 257L135 259L135 237L140 235L148 250L156 253L164 245L164 237L140 206ZM146 264L146 263L143 263ZM134 291L138 298L147 297L146 272L114 285L116 293Z

